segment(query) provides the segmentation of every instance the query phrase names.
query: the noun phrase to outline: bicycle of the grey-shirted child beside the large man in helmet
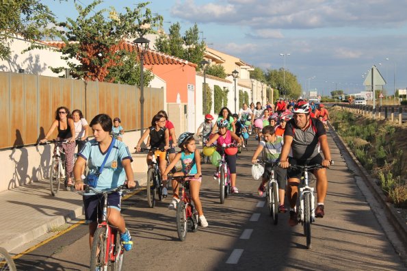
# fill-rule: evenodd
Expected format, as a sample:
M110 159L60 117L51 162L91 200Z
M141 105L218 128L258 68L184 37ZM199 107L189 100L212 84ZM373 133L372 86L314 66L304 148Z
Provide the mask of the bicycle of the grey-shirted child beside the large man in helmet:
M259 160L258 160L259 161ZM273 218L274 224L278 223L278 204L280 199L278 198L278 183L276 180L276 167L279 162L262 162L263 167L270 168L270 177L267 181L267 188L265 190L265 196L267 201L267 206L269 207L270 216Z

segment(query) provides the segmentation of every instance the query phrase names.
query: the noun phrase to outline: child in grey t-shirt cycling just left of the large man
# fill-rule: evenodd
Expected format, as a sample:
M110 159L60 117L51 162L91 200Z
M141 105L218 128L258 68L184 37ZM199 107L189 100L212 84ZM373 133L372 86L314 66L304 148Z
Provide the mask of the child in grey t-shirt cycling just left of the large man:
M254 164L257 162L257 157L259 156L261 151L263 151L263 149L265 148L265 170L258 189L259 196L263 196L265 185L270 177L270 163L278 161L278 157L280 156L281 149L283 149L284 144L283 137L276 135L276 133L274 132L274 127L272 127L271 125L263 127L263 138L265 141L261 140L259 142L259 146L257 147L257 150L254 152L254 155L252 157L252 163ZM280 213L285 213L287 211L287 209L285 209L284 207L287 170L278 166L276 167L275 172L278 183L278 198L280 198L278 211Z

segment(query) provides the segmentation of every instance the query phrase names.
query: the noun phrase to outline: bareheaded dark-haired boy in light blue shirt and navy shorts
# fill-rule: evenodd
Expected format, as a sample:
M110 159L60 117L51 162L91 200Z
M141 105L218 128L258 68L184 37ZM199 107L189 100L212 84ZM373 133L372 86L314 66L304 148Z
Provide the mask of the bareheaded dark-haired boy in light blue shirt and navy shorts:
M82 168L88 161L90 173L95 174L100 171L100 167L105 161L109 146L113 144L109 156L106 159L105 166L99 175L96 184L97 190L117 188L125 183L127 177L127 187L134 188L133 170L131 170L131 154L127 146L111 137L111 118L106 114L99 114L90 122L94 139L86 142L78 155L74 167L75 188L83 190L83 181L81 179ZM126 229L124 218L120 215L121 193L109 194L107 197L107 218L109 223L118 229L120 238L125 250L131 250L133 242L131 235ZM98 214L101 216L101 196L92 192L83 194L83 204L85 206L85 218L90 221L89 224L89 244L92 247L94 232L97 228Z

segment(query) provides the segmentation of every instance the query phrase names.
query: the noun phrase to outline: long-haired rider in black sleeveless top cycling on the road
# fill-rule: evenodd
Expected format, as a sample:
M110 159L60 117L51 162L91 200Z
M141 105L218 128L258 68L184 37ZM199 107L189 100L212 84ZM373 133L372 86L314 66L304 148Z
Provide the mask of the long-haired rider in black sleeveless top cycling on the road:
M151 151L147 155L147 164L150 165L153 160L153 151L156 157L159 157L159 170L164 172L166 170L167 162L166 150L170 145L170 133L166 128L166 118L161 114L156 114L151 120L151 126L144 131L142 137L137 142L135 146L136 151L142 149L142 142L144 139L150 135L147 146L151 146ZM158 148L159 150L154 150ZM168 194L167 191L167 181L163 181L163 196L166 197Z

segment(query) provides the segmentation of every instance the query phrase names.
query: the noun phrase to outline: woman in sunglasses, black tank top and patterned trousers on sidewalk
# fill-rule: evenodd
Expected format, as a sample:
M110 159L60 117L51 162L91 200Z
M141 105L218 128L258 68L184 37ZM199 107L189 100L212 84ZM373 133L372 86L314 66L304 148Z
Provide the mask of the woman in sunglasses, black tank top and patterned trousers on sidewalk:
M69 109L61 106L57 108L55 112L55 120L52 122L51 127L45 138L40 140L41 143L44 143L52 135L53 131L58 129L57 140L68 140L68 143L62 144L62 149L65 151L65 173L68 178L68 185L72 185L73 179L73 155L75 153L75 124L73 122L72 116L70 116ZM55 154L54 149L54 154Z

